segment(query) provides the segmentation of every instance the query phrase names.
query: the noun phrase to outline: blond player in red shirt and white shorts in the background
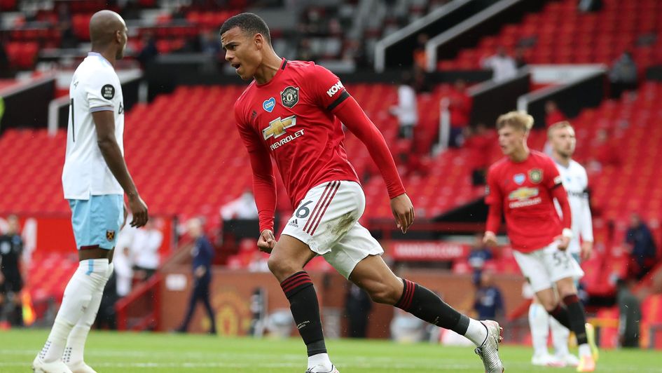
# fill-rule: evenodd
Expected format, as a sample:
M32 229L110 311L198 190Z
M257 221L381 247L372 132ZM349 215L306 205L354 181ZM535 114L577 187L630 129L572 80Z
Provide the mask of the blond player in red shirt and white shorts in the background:
M532 126L532 116L520 111L497 119L499 146L506 157L488 171L485 202L490 205L490 212L483 240L488 245L497 244L495 233L503 211L520 270L546 311L577 336L577 372L593 372L593 329L586 324L584 307L574 285L574 278L584 276L584 271L566 251L572 238L570 205L551 158L527 147ZM553 198L561 206L563 222ZM554 285L565 306L556 299Z

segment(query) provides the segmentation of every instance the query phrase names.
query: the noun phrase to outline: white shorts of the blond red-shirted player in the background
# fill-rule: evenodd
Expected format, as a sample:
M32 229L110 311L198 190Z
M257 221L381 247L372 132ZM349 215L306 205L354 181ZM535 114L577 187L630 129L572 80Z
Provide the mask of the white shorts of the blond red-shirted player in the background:
M549 289L563 278L578 280L584 271L570 252L558 250L558 241L534 252L513 250L520 271L534 292Z

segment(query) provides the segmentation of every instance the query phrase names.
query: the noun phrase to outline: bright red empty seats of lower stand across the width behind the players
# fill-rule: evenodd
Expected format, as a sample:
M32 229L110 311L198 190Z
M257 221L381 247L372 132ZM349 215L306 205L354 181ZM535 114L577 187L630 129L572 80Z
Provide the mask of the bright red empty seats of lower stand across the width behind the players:
M396 140L396 120L388 114L389 106L396 102L394 88L359 84L348 89L397 154L403 145ZM249 162L232 114L233 102L241 91L241 86L180 87L151 104L138 104L127 113L127 163L151 212L202 214L214 225L219 222L219 207L250 186ZM438 121L435 108L442 91L439 88L420 97L420 136L428 136L426 131L434 133ZM656 147L662 141L662 131L656 126L662 118L662 111L655 104L659 100L662 100L662 84L644 83L636 97L628 94L621 100L607 100L572 120L580 144L577 159L592 170L595 211L600 222L616 222L612 238L607 237L604 223L595 224L596 240L605 245L605 251L585 264L586 285L593 294L613 293L614 278L624 274L626 255L620 245L628 214L640 211L644 219L653 222L662 215L662 180L654 172L656 159L662 157ZM621 151L614 160L616 163L598 167L593 164L600 162L600 152L605 151L602 144L595 144L601 131L612 133L612 141L627 151ZM532 133L529 144L532 149L542 149L544 142L545 133L537 131ZM8 130L0 137L0 152L4 154L0 167L7 170L0 183L0 194L5 197L0 199L0 210L68 212L60 186L64 143L63 130L55 137L48 137L46 130ZM365 147L351 134L347 134L346 147L359 175L373 174L364 182L369 201L364 222L389 219L386 189ZM416 149L406 150L416 152ZM31 156L27 158L23 154ZM468 149L451 149L429 159L426 175L405 178L420 217L434 217L483 194L481 187L471 186L471 170L467 165L471 164L472 156L475 155ZM490 160L500 157L495 143ZM29 167L35 164L39 167ZM632 180L637 183L631 183ZM493 264L494 268L516 271L511 255L506 254ZM238 259L233 260L237 264ZM461 272L462 265L456 265L455 269Z

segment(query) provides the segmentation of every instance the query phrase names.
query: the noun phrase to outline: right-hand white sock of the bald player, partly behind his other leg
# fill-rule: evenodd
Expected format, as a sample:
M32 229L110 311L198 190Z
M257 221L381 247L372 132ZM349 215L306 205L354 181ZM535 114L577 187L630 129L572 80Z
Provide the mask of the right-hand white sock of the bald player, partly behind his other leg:
M95 323L97 318L97 312L99 311L99 305L101 304L101 299L104 294L104 287L108 279L113 274L113 264L108 265L106 269L105 280L102 283L99 283L97 291L92 294L92 300L90 305L83 313L83 316L78 320L78 323L71 329L69 333L69 338L67 338L67 347L64 348L64 354L62 355L62 361L64 361L69 366L76 366L78 364L83 364L83 351L85 350L85 341L88 339L88 334L90 333L90 328Z

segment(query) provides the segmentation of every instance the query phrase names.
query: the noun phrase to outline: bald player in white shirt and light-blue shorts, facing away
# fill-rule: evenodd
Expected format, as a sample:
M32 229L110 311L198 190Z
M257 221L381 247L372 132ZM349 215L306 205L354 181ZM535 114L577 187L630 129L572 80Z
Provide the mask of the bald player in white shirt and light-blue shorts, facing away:
M117 13L92 15L92 52L69 86L62 187L71 207L79 264L46 344L32 362L34 372L95 372L83 361L83 348L113 272L113 249L126 216L124 194L133 212L131 225L143 226L148 219L124 161L124 102L114 66L124 55L126 33Z

